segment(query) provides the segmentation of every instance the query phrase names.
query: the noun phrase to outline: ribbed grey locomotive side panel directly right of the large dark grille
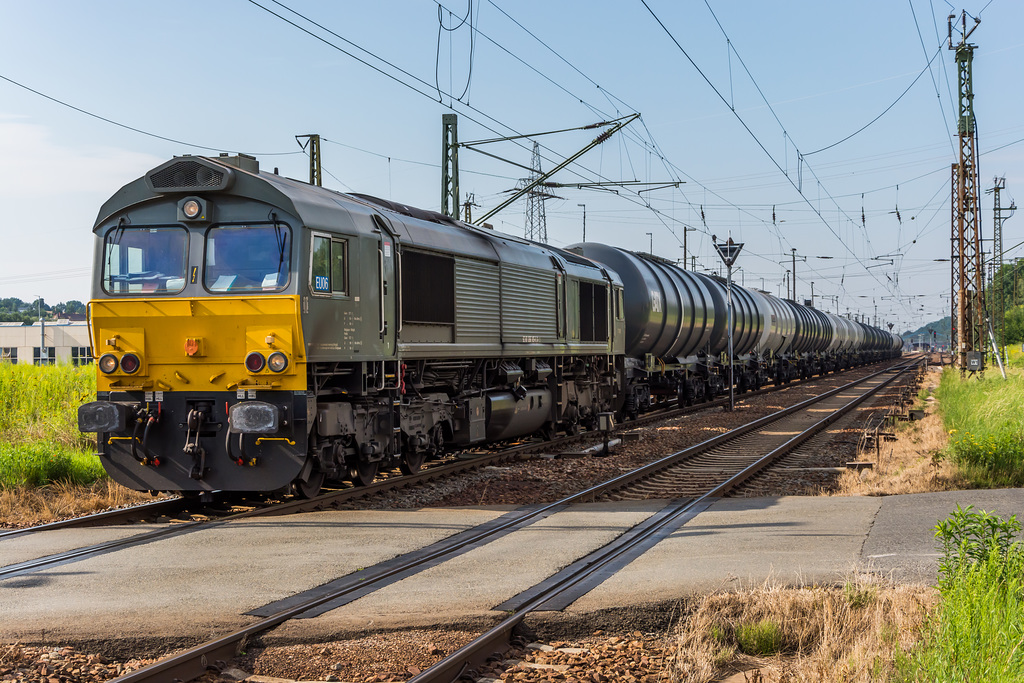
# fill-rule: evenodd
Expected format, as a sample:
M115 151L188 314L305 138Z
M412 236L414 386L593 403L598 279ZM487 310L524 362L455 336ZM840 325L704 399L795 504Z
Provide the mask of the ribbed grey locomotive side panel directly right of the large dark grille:
M498 265L455 260L455 335L459 344L498 344L500 287Z

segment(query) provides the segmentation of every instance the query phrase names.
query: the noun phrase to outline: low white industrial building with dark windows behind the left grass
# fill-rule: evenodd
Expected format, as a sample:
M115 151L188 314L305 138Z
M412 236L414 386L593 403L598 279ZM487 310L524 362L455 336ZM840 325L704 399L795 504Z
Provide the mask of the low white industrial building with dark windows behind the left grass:
M0 362L92 362L89 325L84 322L47 321L33 325L0 323ZM40 353L40 349L43 352Z

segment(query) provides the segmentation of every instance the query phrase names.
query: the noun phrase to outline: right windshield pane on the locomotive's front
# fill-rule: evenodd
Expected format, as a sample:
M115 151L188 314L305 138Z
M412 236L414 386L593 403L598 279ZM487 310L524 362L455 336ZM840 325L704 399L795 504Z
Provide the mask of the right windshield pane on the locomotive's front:
M288 286L292 256L286 225L231 225L206 236L203 284L211 292L275 292Z

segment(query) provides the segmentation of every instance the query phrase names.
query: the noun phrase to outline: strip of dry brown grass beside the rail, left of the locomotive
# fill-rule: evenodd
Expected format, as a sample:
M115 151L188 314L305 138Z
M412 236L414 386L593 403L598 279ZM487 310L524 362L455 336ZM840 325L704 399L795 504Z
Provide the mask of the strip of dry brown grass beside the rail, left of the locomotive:
M110 479L91 486L53 483L0 489L0 527L22 527L153 500Z

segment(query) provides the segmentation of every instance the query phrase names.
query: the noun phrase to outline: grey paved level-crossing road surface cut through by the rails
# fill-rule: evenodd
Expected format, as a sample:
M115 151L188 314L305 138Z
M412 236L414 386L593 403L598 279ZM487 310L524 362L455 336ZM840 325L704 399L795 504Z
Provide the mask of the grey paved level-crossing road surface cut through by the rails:
M1024 492L888 498L727 499L609 577L563 612L668 608L709 591L842 582L871 572L931 584L933 526L956 505L1024 516ZM654 514L663 502L572 506L344 606L292 621L267 641L345 637L403 627L476 626L496 607ZM345 511L239 520L0 581L0 641L184 643L239 628L261 607L506 514L510 508ZM50 531L0 543L9 565L138 533ZM39 538L42 537L42 538Z

